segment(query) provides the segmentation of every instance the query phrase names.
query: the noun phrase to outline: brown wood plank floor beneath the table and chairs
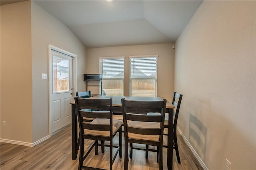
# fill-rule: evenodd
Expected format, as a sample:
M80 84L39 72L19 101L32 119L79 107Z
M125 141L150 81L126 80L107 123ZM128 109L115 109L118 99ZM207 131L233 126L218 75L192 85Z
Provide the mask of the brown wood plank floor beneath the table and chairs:
M166 139L165 139L166 141ZM87 141L85 150L88 149L88 144L92 141ZM114 144L118 144L118 135L115 137ZM124 144L124 141L123 141ZM173 153L173 169L174 170L203 170L190 149L184 143L180 134L178 134L178 145L180 151L181 164L178 164L175 150ZM138 145L137 145L138 146ZM143 145L141 145L143 147ZM76 170L78 169L78 158L72 160L71 151L71 125L52 135L52 137L35 147L26 147L8 143L0 145L1 170ZM164 170L167 169L166 152L164 148ZM109 148L105 148L105 153L94 155L92 151L86 158L84 165L96 166L97 168L109 168ZM123 147L124 158L124 147ZM113 170L123 170L124 159L116 160L113 164ZM156 153L149 152L148 159L145 159L145 152L142 150L134 150L133 158L129 160L129 170L158 170L156 162Z

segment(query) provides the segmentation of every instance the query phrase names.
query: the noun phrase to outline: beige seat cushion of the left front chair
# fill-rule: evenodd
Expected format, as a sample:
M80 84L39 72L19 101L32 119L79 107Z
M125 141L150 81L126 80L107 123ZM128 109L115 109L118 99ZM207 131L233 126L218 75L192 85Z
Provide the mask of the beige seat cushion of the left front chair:
M110 125L110 119L94 119L91 124L99 125ZM123 121L113 119L113 134L122 126ZM110 136L110 131L96 131L90 129L84 129L84 134L86 135L98 135L98 136Z

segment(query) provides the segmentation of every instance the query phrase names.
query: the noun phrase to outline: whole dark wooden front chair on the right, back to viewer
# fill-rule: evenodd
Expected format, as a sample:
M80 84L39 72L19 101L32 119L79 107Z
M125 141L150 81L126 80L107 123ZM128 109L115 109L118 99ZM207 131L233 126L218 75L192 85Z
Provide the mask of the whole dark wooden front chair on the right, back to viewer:
M166 100L162 101L134 101L121 99L124 119L124 170L128 170L129 158L132 150L146 150L157 152L159 170L163 169L163 132ZM158 115L147 115L149 111L159 112ZM128 152L128 143L130 150ZM133 143L156 146L157 149L133 147ZM146 155L147 158L147 155Z

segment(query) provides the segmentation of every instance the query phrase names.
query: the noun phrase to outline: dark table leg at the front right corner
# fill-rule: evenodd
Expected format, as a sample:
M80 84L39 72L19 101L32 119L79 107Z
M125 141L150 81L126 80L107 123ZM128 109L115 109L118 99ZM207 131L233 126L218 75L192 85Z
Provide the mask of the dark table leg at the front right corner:
M167 139L167 168L172 170L172 154L173 154L173 109L169 109L168 113L168 139Z

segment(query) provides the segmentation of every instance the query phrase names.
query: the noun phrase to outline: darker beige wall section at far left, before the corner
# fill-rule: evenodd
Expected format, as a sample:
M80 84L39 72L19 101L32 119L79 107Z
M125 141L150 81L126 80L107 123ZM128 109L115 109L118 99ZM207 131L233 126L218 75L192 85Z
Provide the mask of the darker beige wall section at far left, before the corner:
M1 6L1 139L25 143L32 142L30 12L28 1Z

